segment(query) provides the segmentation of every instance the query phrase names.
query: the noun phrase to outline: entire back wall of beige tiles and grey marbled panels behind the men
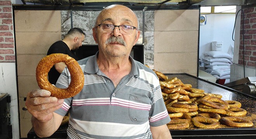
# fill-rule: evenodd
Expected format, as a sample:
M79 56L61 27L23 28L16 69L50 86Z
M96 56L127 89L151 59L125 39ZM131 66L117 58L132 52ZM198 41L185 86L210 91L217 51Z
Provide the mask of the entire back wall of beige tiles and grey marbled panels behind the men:
M17 72L21 137L31 129L31 115L22 111L24 97L38 88L35 69L50 45L71 29L70 11L16 10L15 11ZM86 43L95 44L92 27L99 11L73 11L73 27L86 32ZM143 30L143 11L135 11ZM145 64L163 73L197 73L199 10L145 10Z

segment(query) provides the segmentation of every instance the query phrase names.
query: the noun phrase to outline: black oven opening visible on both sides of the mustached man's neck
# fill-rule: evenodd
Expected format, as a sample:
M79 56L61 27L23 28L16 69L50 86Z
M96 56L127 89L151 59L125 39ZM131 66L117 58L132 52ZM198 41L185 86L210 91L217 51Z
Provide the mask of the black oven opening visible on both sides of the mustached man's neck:
M82 45L76 50L76 56L78 59L87 58L89 56L92 56L96 54L96 52L99 51L98 45L96 44L86 44ZM144 45L143 44L136 44L131 49L130 56L139 61L140 63L144 64Z

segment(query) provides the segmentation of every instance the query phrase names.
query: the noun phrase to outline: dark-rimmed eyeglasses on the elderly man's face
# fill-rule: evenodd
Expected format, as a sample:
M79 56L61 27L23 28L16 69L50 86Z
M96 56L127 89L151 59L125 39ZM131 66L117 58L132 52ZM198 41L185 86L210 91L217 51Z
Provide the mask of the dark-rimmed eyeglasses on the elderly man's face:
M118 27L119 31L123 35L132 34L133 30L137 28L131 25L111 25L111 24L99 24L96 27L100 27L103 31L112 32L114 31L115 27Z

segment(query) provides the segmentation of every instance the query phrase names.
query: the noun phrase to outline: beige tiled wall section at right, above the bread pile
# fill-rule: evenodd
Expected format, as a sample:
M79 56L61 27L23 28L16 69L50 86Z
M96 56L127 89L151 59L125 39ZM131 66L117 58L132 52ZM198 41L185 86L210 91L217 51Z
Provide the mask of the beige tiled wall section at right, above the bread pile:
M155 12L154 68L197 76L199 10Z

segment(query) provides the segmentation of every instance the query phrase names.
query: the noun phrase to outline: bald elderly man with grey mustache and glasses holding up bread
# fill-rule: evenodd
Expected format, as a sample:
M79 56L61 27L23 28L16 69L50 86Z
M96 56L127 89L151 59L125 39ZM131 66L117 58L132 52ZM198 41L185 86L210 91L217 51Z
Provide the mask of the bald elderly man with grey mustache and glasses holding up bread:
M85 76L83 90L65 100L50 97L46 90L28 93L26 106L36 134L52 135L69 110L68 139L171 139L159 80L130 57L139 36L130 8L111 5L102 10L93 28L99 52L78 61ZM68 78L64 70L56 86L67 88Z

